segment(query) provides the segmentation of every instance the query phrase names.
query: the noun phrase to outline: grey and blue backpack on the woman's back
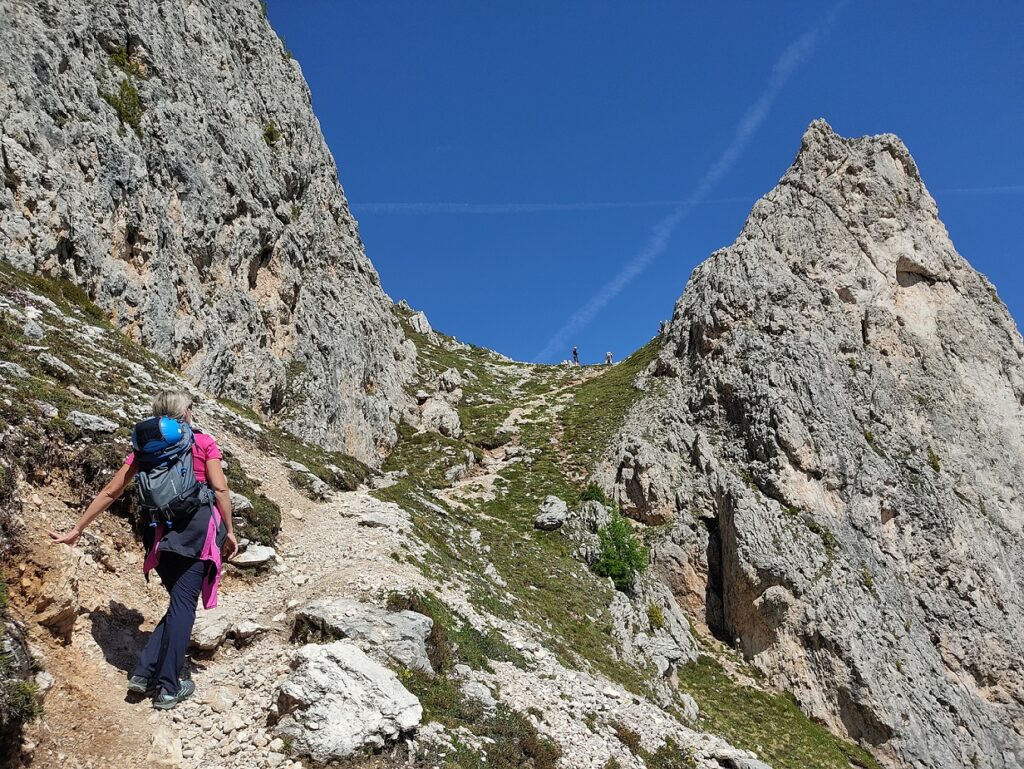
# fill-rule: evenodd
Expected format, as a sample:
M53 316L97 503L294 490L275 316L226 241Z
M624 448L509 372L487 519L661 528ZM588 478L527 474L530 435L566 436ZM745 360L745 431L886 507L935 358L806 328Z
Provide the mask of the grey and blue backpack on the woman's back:
M195 443L188 423L170 417L153 417L132 428L138 499L151 526L173 528L202 507L203 486L193 469Z

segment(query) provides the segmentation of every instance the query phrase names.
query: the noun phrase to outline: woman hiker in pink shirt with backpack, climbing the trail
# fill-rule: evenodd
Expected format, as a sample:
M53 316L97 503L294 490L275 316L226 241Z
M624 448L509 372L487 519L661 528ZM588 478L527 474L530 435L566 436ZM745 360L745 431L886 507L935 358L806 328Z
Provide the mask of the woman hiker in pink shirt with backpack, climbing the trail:
M196 622L196 604L202 594L205 608L217 605L222 560L233 557L239 544L222 455L212 437L193 429L188 393L158 392L153 418L132 430L132 447L71 531L50 531L50 538L74 545L85 527L138 478L142 514L148 519L142 571L148 580L150 570L157 569L170 605L128 678L128 690L152 693L154 708L169 710L196 691L190 680L178 678Z

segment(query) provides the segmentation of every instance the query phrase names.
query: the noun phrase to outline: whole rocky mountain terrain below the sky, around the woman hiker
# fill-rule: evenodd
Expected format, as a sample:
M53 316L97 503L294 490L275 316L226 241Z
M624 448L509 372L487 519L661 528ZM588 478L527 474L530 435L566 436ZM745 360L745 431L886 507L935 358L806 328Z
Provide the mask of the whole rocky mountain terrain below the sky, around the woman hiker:
M258 2L0 28L0 766L1024 769L1024 344L898 138L536 366L384 294ZM163 712L134 497L46 531L168 387L242 553Z

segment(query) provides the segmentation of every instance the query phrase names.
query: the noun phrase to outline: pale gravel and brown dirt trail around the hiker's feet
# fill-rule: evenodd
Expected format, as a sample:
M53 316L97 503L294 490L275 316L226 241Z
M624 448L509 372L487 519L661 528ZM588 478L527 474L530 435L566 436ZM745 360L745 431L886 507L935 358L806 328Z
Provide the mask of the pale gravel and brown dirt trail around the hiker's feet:
M316 597L382 600L390 590L424 584L414 566L391 558L411 528L399 508L366 490L310 502L291 484L280 459L202 416L200 423L282 508L276 565L258 575L228 569L217 609L266 631L242 648L225 643L212 658L194 655L197 696L174 711L158 713L147 700L127 695L126 677L166 609L166 593L155 574L143 581L141 548L113 515L100 516L78 547L51 546L46 529L69 527L80 511L65 504L70 495L58 484L37 489L39 504L26 509L29 559L14 608L55 685L44 717L28 732L35 743L33 766L148 767L155 765L147 759L154 739L170 740L173 747L175 736L186 769L273 766L280 759L268 758L273 735L264 714L294 648L289 609ZM35 611L39 597L65 579L77 588L72 592L80 604L67 645L36 622ZM203 613L200 608L201 618Z

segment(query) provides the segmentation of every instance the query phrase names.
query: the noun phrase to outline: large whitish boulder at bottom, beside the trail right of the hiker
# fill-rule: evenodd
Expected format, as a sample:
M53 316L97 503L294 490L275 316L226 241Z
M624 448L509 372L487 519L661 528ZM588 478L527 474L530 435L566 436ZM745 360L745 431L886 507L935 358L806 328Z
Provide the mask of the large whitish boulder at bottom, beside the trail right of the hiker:
M420 701L397 676L345 641L307 644L278 689L278 733L294 753L327 763L380 749L412 732Z

